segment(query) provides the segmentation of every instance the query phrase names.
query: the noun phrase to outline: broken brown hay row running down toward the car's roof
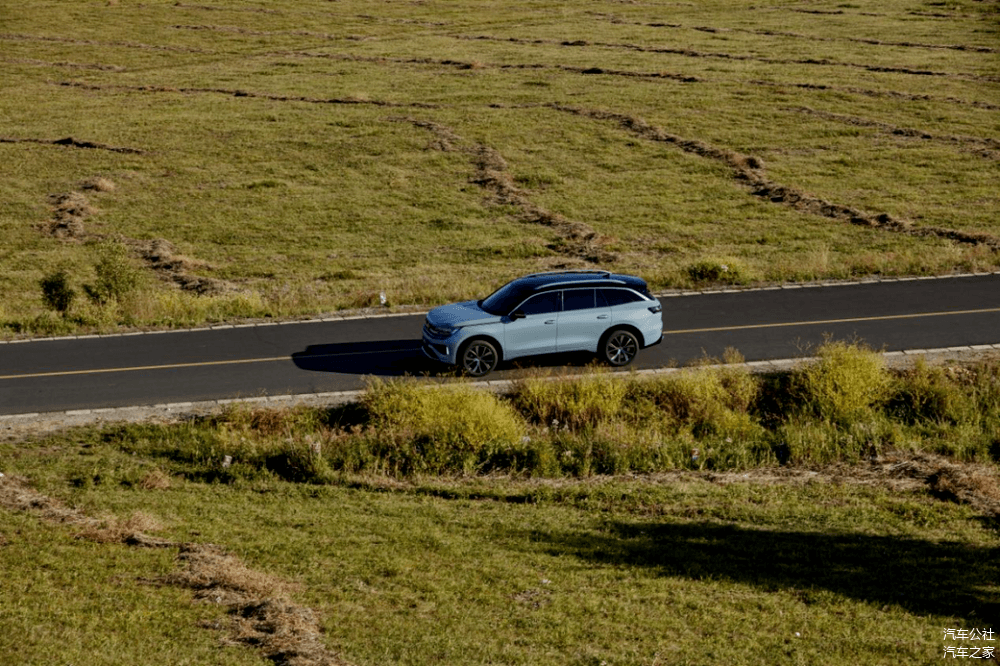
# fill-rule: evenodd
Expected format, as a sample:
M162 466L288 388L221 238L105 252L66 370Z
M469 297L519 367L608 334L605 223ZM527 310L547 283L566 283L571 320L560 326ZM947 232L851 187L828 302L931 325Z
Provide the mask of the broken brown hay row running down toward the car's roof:
M615 254L607 249L611 239L597 233L590 225L570 220L559 213L553 213L535 205L528 193L514 184L503 156L482 144L466 142L451 129L429 120L398 118L426 129L434 136L430 148L445 152L462 152L469 155L475 166L472 182L486 190L495 205L511 206L517 217L528 224L540 224L551 228L559 241L550 249L562 255L582 259L590 263L606 263L615 259Z

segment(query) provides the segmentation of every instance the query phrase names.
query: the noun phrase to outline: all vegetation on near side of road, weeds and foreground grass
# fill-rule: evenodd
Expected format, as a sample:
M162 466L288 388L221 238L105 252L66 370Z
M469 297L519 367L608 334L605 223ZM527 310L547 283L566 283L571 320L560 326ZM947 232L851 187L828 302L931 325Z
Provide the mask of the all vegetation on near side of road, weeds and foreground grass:
M997 617L995 360L546 379L0 445L0 659L932 663Z

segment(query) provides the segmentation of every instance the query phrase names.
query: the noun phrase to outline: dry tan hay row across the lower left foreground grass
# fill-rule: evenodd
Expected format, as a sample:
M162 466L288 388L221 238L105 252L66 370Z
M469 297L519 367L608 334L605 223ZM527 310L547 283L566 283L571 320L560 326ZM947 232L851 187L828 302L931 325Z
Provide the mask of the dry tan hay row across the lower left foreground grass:
M226 606L230 615L228 626L206 625L223 630L224 643L256 648L267 659L284 666L348 663L323 644L322 629L312 609L287 598L289 586L284 581L250 569L219 546L150 536L145 531L159 529L159 525L141 513L124 521L91 518L42 495L18 477L0 476L0 506L50 522L79 525L80 538L98 543L177 548L178 569L162 579L147 582L194 590L195 599Z

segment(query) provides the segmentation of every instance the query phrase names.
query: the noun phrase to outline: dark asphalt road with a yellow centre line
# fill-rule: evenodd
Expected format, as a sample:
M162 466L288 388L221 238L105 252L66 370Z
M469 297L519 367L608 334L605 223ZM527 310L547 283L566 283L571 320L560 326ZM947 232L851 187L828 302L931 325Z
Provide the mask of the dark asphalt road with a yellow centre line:
M640 352L639 368L727 347L748 361L805 356L825 339L884 351L1000 343L1000 275L661 300L663 343ZM423 315L402 315L0 344L0 414L342 391L367 375L435 374L420 351L422 326Z

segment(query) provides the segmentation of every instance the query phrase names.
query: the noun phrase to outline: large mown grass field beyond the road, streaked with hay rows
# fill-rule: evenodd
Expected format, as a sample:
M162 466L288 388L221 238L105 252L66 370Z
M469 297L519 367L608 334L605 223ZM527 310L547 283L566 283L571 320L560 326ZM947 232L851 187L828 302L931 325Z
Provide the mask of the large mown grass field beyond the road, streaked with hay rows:
M434 304L564 266L657 288L997 269L998 20L5 3L0 331ZM90 298L115 244L138 279ZM65 316L39 287L60 270Z

